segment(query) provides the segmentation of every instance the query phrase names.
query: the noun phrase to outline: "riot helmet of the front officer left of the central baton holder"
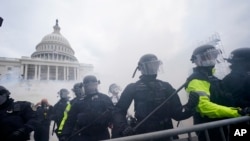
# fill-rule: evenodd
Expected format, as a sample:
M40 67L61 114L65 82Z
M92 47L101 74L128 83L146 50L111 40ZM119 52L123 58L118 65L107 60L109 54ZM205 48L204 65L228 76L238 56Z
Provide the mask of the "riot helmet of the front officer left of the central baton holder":
M100 81L94 75L87 75L83 78L83 87L86 94L94 94L98 92Z

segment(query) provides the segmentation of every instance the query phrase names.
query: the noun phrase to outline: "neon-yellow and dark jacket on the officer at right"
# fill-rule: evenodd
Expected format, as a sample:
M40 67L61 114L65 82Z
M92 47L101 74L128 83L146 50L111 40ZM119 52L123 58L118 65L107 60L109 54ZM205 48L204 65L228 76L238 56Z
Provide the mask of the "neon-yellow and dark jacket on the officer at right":
M216 90L211 90L212 83L209 77L214 76L207 75L209 73L205 73L203 69L195 68L194 73L188 78L188 83L186 85L186 91L188 94L197 93L200 96L196 108L200 117L206 117L209 119L239 117L239 108L226 107L211 101L210 98L214 94L211 92L215 92Z

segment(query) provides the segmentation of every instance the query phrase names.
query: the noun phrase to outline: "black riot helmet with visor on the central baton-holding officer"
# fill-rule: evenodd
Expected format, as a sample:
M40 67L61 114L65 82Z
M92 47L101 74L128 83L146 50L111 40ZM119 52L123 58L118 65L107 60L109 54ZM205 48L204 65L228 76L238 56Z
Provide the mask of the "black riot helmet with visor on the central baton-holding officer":
M137 70L141 71L143 75L156 75L160 65L162 65L162 62L158 60L156 55L145 54L140 58L132 77L135 76Z

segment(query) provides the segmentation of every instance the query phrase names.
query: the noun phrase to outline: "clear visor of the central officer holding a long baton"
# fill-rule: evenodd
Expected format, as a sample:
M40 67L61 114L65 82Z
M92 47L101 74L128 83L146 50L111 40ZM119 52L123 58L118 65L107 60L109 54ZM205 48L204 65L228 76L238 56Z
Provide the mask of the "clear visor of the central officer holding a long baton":
M158 73L161 65L162 62L159 60L144 62L140 64L140 71L144 75L154 75Z

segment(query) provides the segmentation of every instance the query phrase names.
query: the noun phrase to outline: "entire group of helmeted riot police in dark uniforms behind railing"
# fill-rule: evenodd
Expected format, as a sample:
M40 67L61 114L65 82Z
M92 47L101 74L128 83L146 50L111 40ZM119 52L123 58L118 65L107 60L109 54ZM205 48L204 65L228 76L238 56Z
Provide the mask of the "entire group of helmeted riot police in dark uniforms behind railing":
M124 90L113 83L108 94L98 90L100 80L87 75L74 84L75 98L69 90L60 89L60 100L50 105L42 99L36 105L14 101L10 92L0 86L0 133L2 141L27 141L34 131L35 141L49 141L50 125L59 141L99 141L174 128L172 119L193 117L194 124L207 123L250 114L250 48L238 48L226 59L231 72L218 79L214 72L221 51L212 45L197 47L191 56L195 64L184 88L188 101L182 104L169 82L157 78L162 62L154 54L140 57L133 74L139 80ZM120 94L121 92L121 94ZM128 112L134 101L134 115ZM54 122L51 122L54 121ZM233 126L248 125L240 123ZM230 129L223 128L227 141ZM211 141L221 141L219 128L208 130ZM204 132L196 132L199 141L206 141ZM178 136L174 136L178 139ZM145 139L146 140L146 139ZM168 141L166 137L157 141ZM156 141L156 140L154 140Z

